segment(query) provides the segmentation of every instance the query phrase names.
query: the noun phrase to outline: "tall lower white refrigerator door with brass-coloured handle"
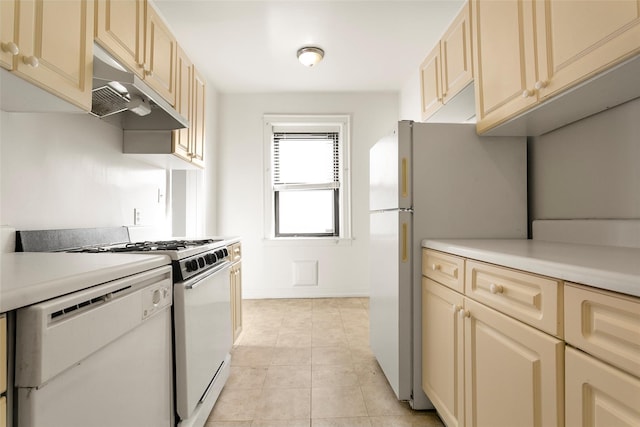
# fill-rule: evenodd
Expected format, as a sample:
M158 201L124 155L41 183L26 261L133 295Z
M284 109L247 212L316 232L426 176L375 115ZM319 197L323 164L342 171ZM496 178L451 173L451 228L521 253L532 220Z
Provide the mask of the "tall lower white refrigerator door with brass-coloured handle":
M370 344L400 400L412 389L411 223L409 211L370 214Z

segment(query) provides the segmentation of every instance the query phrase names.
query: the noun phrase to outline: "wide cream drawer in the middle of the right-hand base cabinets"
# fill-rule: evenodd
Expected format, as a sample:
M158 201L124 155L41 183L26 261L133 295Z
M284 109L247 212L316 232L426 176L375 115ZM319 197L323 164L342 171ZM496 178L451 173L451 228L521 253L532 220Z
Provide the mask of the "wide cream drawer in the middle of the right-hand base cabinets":
M467 260L465 295L562 337L562 282Z

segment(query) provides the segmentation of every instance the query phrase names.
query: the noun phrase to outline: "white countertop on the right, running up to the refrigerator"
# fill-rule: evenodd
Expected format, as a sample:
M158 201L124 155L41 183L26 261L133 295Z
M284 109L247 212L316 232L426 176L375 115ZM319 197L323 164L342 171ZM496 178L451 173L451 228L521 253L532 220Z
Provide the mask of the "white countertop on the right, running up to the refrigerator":
M640 297L636 248L523 239L425 239L422 247Z

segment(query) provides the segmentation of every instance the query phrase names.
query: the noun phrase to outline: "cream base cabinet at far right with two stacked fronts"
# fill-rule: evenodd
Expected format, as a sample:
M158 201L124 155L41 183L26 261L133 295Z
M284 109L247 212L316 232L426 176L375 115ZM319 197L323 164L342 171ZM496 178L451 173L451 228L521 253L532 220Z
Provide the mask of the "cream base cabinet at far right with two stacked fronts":
M640 298L565 286L567 425L640 425Z

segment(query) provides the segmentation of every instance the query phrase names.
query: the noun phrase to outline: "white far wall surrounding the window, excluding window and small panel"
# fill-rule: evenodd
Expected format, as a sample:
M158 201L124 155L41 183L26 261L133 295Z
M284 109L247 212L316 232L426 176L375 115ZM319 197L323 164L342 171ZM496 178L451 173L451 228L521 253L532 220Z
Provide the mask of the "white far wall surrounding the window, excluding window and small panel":
M369 148L398 118L397 93L219 95L219 232L243 245L245 298L368 295ZM278 244L263 230L264 114L350 114L354 240ZM292 264L318 261L318 286L293 286Z

